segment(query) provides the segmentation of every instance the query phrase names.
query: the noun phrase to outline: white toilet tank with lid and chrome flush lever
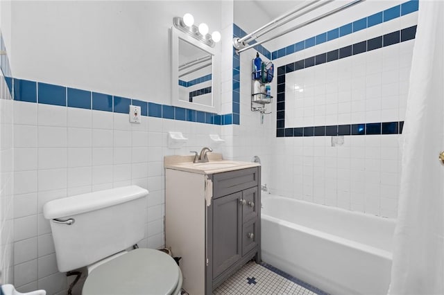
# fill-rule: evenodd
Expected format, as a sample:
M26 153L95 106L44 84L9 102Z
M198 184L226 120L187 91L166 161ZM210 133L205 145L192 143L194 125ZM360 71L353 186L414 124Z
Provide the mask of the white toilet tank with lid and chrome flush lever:
M43 214L51 224L58 270L91 265L142 240L146 195L148 190L144 188L126 186L44 204Z

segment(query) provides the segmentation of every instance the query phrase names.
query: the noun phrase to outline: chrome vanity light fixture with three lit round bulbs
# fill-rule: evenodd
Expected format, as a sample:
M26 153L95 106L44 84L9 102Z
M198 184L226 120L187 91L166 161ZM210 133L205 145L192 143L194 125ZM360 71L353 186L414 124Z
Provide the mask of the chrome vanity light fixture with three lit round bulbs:
M189 13L185 13L183 17L173 17L173 25L182 32L198 39L203 44L214 47L216 42L221 41L221 33L214 31L211 35L207 24L202 23L199 26L194 24L194 17Z

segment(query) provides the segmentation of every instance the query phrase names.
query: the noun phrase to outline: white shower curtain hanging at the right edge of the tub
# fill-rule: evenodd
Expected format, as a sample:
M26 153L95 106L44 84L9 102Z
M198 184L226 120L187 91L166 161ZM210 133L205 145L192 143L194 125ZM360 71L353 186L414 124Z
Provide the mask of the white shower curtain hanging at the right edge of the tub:
M444 1L419 1L388 294L444 294Z

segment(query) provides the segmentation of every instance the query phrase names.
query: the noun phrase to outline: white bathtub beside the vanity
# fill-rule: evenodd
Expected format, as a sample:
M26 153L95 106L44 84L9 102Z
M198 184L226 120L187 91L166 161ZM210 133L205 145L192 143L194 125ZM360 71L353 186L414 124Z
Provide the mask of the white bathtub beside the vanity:
M262 195L262 260L330 294L387 294L395 220Z

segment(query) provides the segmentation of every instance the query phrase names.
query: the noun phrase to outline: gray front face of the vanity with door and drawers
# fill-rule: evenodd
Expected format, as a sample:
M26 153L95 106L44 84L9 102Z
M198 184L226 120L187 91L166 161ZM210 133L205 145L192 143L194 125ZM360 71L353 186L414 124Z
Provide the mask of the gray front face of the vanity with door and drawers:
M207 268L212 289L248 260L260 261L259 175L259 167L212 175L214 199L208 208L212 218L207 235L212 247Z

